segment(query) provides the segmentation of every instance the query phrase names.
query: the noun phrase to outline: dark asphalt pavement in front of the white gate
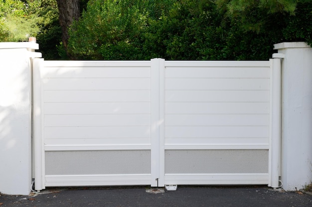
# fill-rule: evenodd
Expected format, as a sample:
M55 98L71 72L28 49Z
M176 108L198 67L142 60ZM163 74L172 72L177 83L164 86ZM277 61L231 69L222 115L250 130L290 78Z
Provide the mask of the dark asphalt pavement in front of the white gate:
M48 188L30 196L0 194L0 207L312 207L312 195L265 186Z

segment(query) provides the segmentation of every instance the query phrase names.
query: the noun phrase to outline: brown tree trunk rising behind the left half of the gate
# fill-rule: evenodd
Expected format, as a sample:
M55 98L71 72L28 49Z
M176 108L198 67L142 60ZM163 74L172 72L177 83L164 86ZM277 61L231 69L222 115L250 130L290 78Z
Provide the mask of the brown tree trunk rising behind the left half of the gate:
M56 0L59 11L59 23L62 28L62 42L67 52L68 28L80 16L79 0Z

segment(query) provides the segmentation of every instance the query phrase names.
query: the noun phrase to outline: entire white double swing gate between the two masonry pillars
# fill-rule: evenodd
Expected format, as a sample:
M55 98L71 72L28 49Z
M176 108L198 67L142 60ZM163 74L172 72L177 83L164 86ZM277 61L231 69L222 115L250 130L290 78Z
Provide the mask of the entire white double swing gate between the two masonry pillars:
M35 190L278 187L280 60L33 60Z

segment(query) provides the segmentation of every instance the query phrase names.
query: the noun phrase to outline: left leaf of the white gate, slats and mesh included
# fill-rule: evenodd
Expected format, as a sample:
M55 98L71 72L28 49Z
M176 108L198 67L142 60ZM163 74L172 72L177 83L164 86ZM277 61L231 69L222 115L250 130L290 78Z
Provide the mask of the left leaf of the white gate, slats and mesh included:
M44 61L43 185L151 185L151 64Z

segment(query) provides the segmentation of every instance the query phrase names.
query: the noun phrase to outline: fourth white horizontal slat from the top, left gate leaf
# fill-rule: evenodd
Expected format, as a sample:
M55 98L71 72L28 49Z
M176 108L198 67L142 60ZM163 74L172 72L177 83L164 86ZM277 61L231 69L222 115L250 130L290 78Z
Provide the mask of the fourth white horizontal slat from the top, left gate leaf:
M44 114L150 114L149 102L44 103Z

